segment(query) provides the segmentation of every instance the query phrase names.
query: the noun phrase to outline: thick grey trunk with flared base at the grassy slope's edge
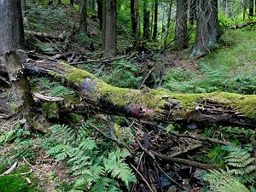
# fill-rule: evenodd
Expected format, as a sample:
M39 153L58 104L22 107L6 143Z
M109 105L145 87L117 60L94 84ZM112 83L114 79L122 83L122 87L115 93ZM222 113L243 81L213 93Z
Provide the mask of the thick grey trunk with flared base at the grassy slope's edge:
M206 55L217 44L221 32L218 25L218 0L200 0L195 45L191 56Z

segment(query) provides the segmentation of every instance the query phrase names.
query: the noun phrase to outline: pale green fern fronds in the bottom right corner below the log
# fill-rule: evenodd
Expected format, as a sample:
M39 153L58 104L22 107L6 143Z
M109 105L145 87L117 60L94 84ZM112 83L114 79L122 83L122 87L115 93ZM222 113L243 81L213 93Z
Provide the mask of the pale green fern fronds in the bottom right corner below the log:
M251 158L251 154L246 149L236 146L222 146L221 148L218 146L215 152L216 156L224 156L227 171L208 172L204 179L210 183L210 188L222 192L249 191L243 184L254 183L256 177L255 159Z

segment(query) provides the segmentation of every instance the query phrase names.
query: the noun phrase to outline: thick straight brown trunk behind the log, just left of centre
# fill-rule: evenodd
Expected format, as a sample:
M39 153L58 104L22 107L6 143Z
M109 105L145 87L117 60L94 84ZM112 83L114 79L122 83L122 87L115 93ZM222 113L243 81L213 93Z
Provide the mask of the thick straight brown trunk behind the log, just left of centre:
M104 57L116 55L116 0L107 0Z

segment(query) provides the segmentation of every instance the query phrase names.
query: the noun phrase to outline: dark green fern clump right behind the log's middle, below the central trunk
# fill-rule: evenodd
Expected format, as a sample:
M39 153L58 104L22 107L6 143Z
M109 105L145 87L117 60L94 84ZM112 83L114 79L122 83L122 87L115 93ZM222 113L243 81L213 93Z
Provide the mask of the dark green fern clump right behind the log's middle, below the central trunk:
M119 60L114 63L113 70L102 76L102 79L108 84L117 87L137 89L143 77L137 76L139 68L131 61Z

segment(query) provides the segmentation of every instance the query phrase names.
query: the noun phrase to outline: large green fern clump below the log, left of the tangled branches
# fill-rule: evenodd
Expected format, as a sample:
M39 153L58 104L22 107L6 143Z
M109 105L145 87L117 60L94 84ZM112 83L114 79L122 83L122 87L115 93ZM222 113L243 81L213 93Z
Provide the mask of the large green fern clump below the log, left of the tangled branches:
M90 130L91 120L75 130L67 125L50 127L52 136L49 142L48 154L56 160L65 160L70 166L70 172L76 177L74 189L86 191L120 191L119 185L129 188L136 177L131 168L125 164L125 158L130 155L125 150L110 150L102 153L100 143ZM119 182L118 182L119 181Z

